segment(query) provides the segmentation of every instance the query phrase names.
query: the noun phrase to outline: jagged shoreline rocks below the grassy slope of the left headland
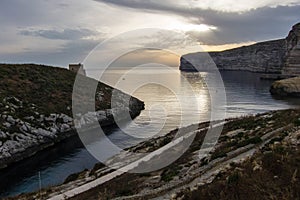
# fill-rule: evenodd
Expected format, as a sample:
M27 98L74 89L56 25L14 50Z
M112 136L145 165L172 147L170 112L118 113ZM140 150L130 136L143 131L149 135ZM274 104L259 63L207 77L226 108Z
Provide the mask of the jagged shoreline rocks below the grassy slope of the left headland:
M125 94L123 94L125 95ZM14 101L21 103L17 98L13 98ZM132 98L133 103L129 109L130 116L137 117L141 110L144 109L144 103L136 98ZM10 104L16 108L16 105ZM120 108L119 112L127 112L125 108ZM86 126L85 130L93 129L93 124L100 124L102 127L111 126L115 124L114 116L111 109L100 110L96 113L104 113L105 116L95 119L91 116L97 114L88 113L81 117L81 126ZM37 113L36 113L37 114ZM115 113L117 114L117 113ZM37 114L39 115L39 114ZM61 117L58 117L61 116ZM20 162L28 157L35 155L36 153L51 148L57 143L60 143L72 136L77 135L73 119L65 114L50 114L49 117L41 116L38 119L39 122L48 122L47 126L34 127L28 122L24 122L20 119L14 119L12 116L1 114L0 117L5 120L3 122L7 126L19 127L19 132L13 133L13 136L9 132L0 131L0 138L5 139L0 145L0 169L9 167L10 165ZM33 117L33 116L32 116ZM32 118L32 120L37 120ZM57 122L60 121L60 122ZM52 122L52 123L51 123ZM18 130L16 130L18 131Z

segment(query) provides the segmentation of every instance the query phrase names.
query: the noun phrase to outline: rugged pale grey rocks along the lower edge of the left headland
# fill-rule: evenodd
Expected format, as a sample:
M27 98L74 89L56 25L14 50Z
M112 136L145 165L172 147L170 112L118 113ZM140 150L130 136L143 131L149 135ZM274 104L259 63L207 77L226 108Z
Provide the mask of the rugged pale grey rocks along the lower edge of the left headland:
M76 135L75 128L91 129L96 123L113 125L116 116L122 120L123 113L129 113L135 118L144 109L144 103L134 97L130 99L129 108L124 106L122 99L128 95L121 91L118 93L117 98L122 104L118 108L88 112L80 116L80 121L64 113L41 114L34 104L27 104L16 97L4 98L0 102L0 106L6 109L0 113L0 169ZM15 113L24 111L26 116L16 117Z

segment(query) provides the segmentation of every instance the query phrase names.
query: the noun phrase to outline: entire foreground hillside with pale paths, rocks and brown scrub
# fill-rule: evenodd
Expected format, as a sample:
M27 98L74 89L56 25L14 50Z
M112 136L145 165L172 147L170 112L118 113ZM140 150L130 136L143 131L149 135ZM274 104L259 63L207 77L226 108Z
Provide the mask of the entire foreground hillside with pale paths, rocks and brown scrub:
M196 131L189 131L195 128ZM96 164L91 171L71 175L60 186L11 199L35 199L38 195L52 199L100 200L299 198L299 110L229 119L214 149L200 157L208 128L207 122L183 128L182 141L190 136L195 139L176 162L164 169L131 174ZM166 148L176 143L171 141L177 131L145 141L129 151L149 152L150 155L153 152L151 165L159 159L156 151L165 149L172 153L180 148L180 144ZM112 160L124 156L130 162L140 160L138 165L143 165L143 158L122 153Z

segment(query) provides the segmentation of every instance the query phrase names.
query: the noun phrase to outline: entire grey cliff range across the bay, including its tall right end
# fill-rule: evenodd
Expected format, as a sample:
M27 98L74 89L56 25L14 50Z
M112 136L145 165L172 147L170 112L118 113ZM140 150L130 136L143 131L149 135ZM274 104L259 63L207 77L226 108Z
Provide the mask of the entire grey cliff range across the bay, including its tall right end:
M210 70L209 55L220 70L300 75L300 24L293 26L286 39L261 42L221 52L183 55L182 71ZM196 70L197 69L197 70Z

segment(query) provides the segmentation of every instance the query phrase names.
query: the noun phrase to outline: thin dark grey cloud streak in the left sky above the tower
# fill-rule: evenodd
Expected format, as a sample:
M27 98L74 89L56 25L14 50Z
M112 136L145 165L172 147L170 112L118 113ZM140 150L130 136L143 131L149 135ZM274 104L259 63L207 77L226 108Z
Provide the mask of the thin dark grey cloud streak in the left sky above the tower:
M59 30L21 30L25 36L36 36L55 40L78 40L89 36L99 36L101 33L90 29L64 29Z

